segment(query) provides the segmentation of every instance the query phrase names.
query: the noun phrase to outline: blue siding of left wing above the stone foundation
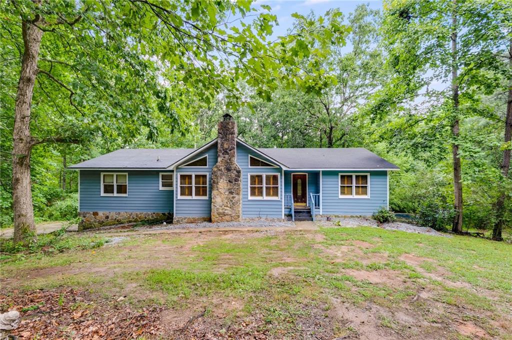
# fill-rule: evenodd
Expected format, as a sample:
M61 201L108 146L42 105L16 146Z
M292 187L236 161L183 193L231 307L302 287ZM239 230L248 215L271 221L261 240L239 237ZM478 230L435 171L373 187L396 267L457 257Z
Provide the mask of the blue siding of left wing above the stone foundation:
M101 172L128 173L128 196L101 196ZM174 190L160 190L159 173L80 170L79 211L172 213Z

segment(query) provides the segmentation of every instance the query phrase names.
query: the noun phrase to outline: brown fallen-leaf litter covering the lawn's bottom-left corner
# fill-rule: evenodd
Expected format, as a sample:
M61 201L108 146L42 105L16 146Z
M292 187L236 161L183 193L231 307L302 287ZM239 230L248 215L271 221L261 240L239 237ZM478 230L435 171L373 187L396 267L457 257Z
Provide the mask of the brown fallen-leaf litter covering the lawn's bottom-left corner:
M19 339L131 339L161 332L162 307L136 310L122 298L102 298L70 288L12 291L0 310L20 312Z

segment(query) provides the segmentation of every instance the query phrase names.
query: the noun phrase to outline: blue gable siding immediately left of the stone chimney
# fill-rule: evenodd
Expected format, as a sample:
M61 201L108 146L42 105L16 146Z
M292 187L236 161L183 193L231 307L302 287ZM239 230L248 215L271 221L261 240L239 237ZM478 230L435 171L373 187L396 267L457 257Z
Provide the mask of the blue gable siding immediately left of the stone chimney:
M208 155L208 168L182 168L176 169L176 216L184 217L210 217L211 216L211 169L217 164L217 143L206 150L190 157L183 163ZM208 199L191 199L178 197L179 173L207 173L208 174Z

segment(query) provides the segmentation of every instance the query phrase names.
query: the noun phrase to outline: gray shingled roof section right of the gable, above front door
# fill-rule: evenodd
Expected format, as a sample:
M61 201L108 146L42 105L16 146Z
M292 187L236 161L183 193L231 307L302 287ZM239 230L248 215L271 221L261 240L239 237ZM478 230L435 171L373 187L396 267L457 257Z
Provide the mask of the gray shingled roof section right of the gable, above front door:
M258 150L292 169L398 169L365 148Z

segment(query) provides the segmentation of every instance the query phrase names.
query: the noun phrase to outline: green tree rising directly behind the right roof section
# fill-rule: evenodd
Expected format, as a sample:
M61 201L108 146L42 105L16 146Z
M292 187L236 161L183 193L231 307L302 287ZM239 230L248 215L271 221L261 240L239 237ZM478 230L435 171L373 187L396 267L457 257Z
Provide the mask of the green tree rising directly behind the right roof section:
M297 16L295 26L310 17ZM305 55L304 72L297 82L299 108L307 126L317 131L319 147L347 147L353 142L357 113L374 95L383 80L383 54L379 47L379 11L359 5L347 16L347 44L318 47L322 58L311 63ZM292 29L293 30L293 29ZM347 46L345 46L347 45Z

